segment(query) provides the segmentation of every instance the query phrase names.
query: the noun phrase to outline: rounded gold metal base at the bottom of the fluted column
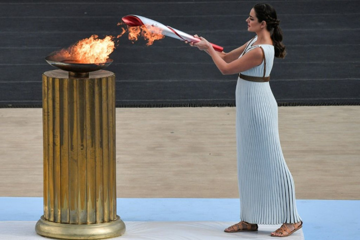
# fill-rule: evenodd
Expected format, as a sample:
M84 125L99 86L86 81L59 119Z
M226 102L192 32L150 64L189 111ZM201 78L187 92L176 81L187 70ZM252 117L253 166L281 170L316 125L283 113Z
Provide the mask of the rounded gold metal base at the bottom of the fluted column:
M107 239L114 238L125 233L125 223L116 216L111 222L95 224L68 224L51 222L41 216L36 223L36 233L55 239Z

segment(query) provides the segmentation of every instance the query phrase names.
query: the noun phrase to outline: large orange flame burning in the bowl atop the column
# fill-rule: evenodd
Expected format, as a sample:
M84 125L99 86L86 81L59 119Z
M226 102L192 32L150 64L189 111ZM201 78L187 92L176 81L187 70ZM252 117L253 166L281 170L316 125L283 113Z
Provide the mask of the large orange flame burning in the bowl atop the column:
M82 39L73 46L58 51L54 57L59 59L59 61L105 63L115 48L112 39L112 36L99 39L97 35L91 35L90 38Z

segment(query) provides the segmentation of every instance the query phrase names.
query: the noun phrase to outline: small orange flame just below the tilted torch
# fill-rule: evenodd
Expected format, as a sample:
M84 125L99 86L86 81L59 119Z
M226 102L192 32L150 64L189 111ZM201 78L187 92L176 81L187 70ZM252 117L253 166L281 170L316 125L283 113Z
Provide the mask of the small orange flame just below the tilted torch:
M124 28L123 28L124 29ZM129 40L137 41L138 37L141 35L145 40L148 41L147 46L153 45L154 41L164 38L165 36L161 34L161 29L152 26L152 25L142 25L142 26L128 26Z

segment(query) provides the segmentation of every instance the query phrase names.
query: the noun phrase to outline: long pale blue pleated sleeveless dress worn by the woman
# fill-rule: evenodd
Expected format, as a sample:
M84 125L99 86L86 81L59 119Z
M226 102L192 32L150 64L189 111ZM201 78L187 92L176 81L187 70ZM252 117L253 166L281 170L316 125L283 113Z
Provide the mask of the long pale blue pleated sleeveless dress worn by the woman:
M266 76L269 76L274 47L252 46L256 39L249 41L240 57L254 48L263 48ZM264 61L241 73L262 77ZM236 143L241 220L257 224L299 222L293 177L281 150L277 103L269 82L252 82L238 77Z

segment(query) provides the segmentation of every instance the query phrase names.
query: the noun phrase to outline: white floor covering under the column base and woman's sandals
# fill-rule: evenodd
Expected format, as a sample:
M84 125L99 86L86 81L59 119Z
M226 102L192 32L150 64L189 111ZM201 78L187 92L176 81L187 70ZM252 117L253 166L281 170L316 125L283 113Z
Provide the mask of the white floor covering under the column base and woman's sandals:
M0 221L1 240L45 240L35 232L36 221ZM274 240L270 232L280 225L259 225L257 232L225 233L224 229L234 222L125 222L126 232L118 240ZM304 240L302 229L286 238Z

